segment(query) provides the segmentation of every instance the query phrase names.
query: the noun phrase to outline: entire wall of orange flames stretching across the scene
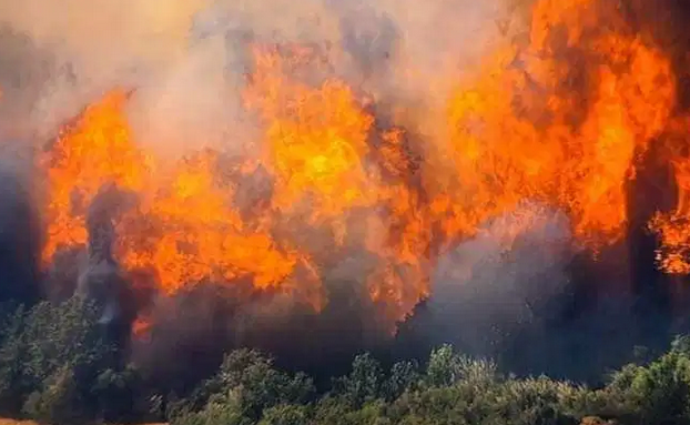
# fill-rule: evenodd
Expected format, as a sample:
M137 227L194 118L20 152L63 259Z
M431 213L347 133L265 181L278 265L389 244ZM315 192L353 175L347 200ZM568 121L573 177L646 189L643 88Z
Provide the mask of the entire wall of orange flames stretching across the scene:
M531 12L526 37L455 80L435 134L384 124L371 98L331 71L332 53L314 45L250 47L243 99L262 152L245 162L203 151L165 163L135 140L128 95L109 93L42 160L44 262L87 243L87 206L114 182L139 201L116 220L118 260L151 271L161 293L250 280L319 310L328 302L322 272L358 250L375 264L357 277L395 323L432 293L439 253L525 203L564 212L579 246L617 243L630 224L627 185L650 146L663 144L678 208L649 227L662 244L660 267L690 273L690 120L674 117L671 60L615 3L540 0ZM236 176L260 169L272 191L245 211ZM507 233L506 249L518 233Z

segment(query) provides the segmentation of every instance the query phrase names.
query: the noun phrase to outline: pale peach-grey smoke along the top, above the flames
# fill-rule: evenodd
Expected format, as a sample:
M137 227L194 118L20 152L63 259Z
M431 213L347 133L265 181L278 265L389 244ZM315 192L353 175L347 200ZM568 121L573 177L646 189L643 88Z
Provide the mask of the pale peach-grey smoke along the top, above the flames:
M335 74L432 104L444 99L434 87L489 48L505 9L504 0L1 0L1 39L18 53L0 59L0 87L34 138L124 87L138 90L130 117L140 142L175 155L200 145L242 153L255 130L240 98L247 40L338 47ZM28 80L17 81L20 65L33 70Z

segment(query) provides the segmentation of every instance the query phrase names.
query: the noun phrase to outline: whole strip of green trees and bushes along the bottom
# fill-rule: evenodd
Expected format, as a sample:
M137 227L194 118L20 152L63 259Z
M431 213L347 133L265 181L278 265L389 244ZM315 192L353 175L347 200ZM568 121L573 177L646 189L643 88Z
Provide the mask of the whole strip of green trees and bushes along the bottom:
M690 340L628 365L601 388L517 378L450 346L424 362L384 368L368 354L318 392L256 351L229 353L189 394L158 394L98 324L98 308L71 300L4 306L0 413L53 425L436 425L690 424Z

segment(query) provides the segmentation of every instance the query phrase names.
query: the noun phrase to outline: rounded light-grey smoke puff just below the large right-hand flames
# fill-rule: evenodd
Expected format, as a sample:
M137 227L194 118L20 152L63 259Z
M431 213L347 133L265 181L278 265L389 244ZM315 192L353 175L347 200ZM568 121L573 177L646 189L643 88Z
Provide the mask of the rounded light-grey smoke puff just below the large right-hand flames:
M539 332L567 294L570 236L565 215L527 204L444 255L428 302L437 338L497 356L518 333Z

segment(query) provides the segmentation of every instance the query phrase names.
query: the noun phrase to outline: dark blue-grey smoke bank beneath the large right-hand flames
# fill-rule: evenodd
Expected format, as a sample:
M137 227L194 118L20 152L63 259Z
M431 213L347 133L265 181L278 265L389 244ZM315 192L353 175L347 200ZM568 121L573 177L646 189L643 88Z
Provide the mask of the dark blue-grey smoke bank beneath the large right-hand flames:
M593 261L574 246L570 229L562 213L538 203L485 223L439 259L434 292L403 325L395 356L451 343L509 373L598 385L639 360L637 346L662 350L672 336L664 313L636 311L625 247Z

